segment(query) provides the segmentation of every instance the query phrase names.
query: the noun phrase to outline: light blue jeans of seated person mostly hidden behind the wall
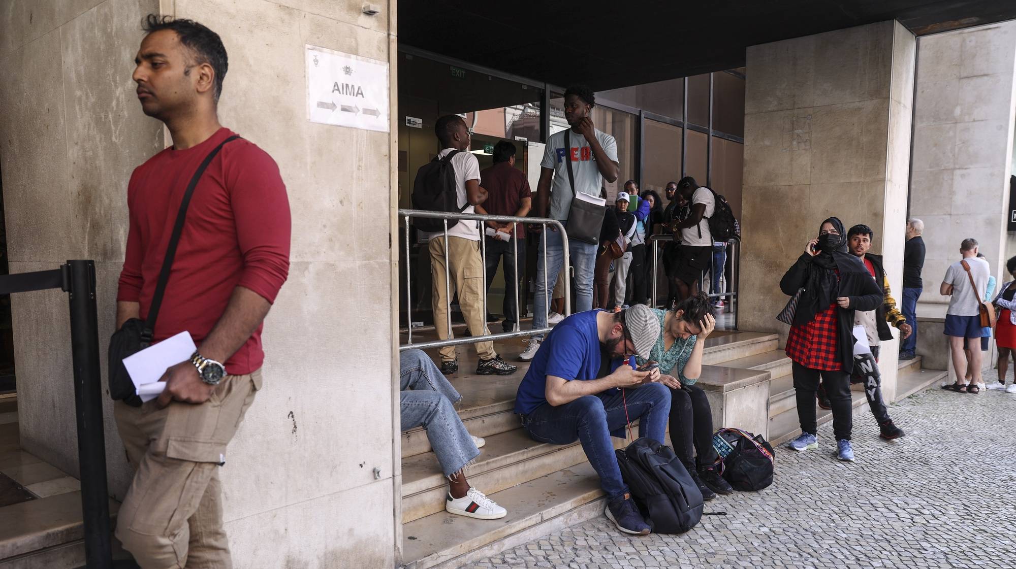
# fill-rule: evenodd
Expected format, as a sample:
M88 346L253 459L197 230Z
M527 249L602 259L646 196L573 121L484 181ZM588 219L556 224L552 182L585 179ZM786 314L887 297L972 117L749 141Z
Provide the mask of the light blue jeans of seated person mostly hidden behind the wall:
M454 475L480 456L480 449L452 405L462 396L423 351L403 352L398 368L402 431L423 425L444 475Z

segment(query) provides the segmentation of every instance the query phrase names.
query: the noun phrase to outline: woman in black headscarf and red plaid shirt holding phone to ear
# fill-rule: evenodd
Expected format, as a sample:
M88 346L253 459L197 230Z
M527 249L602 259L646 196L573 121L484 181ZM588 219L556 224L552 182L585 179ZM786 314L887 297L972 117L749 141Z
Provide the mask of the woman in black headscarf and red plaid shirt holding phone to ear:
M821 376L832 404L836 457L852 461L854 311L878 308L882 289L865 265L847 253L846 230L837 217L822 222L818 238L805 245L804 254L783 275L779 288L789 297L800 293L786 355L793 362L802 433L787 447L804 451L819 446L815 391Z

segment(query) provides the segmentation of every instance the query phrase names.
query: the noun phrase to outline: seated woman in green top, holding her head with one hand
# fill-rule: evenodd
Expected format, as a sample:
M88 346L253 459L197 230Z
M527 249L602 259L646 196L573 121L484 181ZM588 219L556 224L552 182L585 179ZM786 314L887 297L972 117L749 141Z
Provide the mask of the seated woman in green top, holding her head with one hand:
M709 298L704 293L688 297L673 311L652 309L662 333L647 360L659 364L659 382L671 388L671 441L674 452L702 491L703 500L734 489L713 466L718 462L712 447L712 409L705 391L696 385L702 373L705 338L716 327Z

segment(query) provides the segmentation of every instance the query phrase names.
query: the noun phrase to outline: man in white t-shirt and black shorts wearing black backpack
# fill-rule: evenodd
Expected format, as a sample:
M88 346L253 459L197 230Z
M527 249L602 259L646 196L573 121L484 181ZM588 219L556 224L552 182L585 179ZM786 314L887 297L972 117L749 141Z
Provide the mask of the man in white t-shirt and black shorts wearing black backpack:
M712 190L699 186L691 176L678 182L678 193L691 205L691 214L683 222L671 226L677 236L680 232L681 245L677 262L671 269L671 277L678 284L678 302L699 293L702 272L712 263L712 233L709 232L709 217L716 209Z

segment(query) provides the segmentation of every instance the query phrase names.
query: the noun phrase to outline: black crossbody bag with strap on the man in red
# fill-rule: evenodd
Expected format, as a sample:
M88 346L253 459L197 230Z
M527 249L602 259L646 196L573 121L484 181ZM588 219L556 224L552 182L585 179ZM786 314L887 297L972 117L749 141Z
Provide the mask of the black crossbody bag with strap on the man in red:
M124 322L119 330L113 332L110 338L110 396L114 400L122 400L131 406L141 406L141 397L137 396L134 382L124 367L124 358L137 354L151 345L151 339L155 331L155 319L158 317L158 307L163 304L163 295L166 294L166 283L170 280L170 269L173 267L173 257L177 254L177 245L180 243L180 234L184 231L184 222L187 218L187 206L190 198L194 194L201 175L211 164L212 159L218 153L223 146L231 141L240 138L234 135L223 140L215 146L204 161L197 167L194 176L191 177L187 191L180 202L180 211L177 213L176 224L173 226L173 234L170 236L170 243L166 248L166 258L163 259L163 268L158 272L158 281L155 283L155 295L151 298L151 307L148 308L148 317L143 321L139 318L131 318Z

